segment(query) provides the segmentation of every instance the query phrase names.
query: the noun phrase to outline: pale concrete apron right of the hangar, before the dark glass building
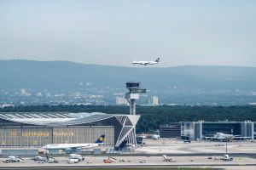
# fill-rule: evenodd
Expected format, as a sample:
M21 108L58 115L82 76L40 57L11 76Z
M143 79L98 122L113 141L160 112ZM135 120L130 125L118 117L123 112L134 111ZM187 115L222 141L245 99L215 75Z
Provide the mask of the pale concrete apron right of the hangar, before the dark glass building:
M226 143L218 141L192 141L184 144L181 140L175 139L144 139L146 144L137 146L136 150L149 154L206 154L225 153ZM229 154L255 154L256 143L253 142L228 142Z

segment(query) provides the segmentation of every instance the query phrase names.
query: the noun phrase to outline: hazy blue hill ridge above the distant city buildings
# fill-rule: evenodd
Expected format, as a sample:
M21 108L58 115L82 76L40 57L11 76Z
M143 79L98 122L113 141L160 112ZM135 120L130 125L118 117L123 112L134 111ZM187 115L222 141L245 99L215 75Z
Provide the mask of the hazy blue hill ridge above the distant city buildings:
M241 66L120 67L68 61L0 60L0 88L76 89L79 82L125 88L142 82L143 88L256 89L256 68Z

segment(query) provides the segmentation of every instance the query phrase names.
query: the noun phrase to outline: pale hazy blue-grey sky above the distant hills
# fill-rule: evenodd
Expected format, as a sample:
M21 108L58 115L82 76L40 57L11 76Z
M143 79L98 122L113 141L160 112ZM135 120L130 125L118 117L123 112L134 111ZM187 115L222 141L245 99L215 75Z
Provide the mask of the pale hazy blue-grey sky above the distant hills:
M256 66L256 1L0 0L0 59Z

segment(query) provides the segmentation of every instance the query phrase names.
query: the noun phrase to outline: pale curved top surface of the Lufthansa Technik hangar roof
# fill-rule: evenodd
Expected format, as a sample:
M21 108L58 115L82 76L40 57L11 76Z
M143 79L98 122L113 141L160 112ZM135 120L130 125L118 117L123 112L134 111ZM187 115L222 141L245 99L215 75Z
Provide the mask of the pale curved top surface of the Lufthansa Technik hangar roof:
M33 125L75 125L96 122L112 117L101 112L68 113L68 112L2 112L0 118L11 122Z

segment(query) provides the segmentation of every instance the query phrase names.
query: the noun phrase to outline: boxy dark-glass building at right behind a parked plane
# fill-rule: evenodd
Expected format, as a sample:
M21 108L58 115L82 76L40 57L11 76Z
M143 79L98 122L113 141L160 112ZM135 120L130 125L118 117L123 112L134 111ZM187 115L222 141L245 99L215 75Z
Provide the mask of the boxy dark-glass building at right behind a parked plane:
M245 122L181 122L181 139L198 140L216 133L233 134L241 139L254 139L254 123ZM244 137L244 138L242 138Z

